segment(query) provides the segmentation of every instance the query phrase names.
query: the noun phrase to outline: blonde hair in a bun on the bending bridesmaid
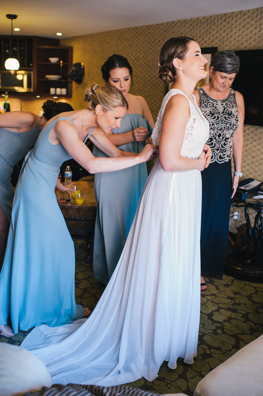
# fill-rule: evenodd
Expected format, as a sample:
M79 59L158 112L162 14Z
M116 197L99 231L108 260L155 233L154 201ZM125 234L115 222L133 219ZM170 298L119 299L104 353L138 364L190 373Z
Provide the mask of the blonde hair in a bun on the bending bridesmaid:
M121 91L113 85L100 87L98 84L93 84L90 88L86 89L84 97L85 102L89 102L89 110L95 110L96 105L101 105L104 112L113 110L116 107L129 109L127 100Z

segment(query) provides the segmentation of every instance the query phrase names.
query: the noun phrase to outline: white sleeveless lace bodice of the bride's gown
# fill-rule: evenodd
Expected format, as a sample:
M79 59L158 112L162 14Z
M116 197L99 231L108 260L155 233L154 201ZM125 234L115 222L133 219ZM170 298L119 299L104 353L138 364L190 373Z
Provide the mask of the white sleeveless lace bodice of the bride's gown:
M163 103L157 117L155 128L151 134L151 138L153 144L159 145L165 106L167 105L170 97L177 93L184 95L189 101L190 106L190 118L185 127L181 155L185 158L197 159L203 150L204 144L209 138L209 124L199 110L195 97L193 96L194 102L192 102L180 89L170 89L163 98Z

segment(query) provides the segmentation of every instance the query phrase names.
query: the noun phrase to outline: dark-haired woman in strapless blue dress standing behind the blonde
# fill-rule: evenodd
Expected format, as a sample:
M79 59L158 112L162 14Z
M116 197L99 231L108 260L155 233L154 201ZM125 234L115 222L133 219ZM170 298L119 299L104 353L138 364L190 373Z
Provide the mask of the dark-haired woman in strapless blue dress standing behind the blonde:
M102 65L101 70L106 84L117 87L129 104L120 128L113 129L107 136L120 150L140 153L145 146L145 139L151 135L154 122L144 98L129 93L132 67L125 57L114 54ZM107 156L96 143L93 155ZM123 251L147 177L146 163L95 175L97 216L93 270L95 278L105 285Z

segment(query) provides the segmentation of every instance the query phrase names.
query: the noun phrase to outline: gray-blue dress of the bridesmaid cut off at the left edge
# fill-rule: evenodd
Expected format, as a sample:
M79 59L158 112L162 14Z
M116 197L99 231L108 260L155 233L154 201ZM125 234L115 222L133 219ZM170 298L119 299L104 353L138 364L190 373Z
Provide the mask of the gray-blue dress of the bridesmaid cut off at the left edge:
M42 117L40 122L41 119ZM36 143L40 134L39 124L32 131L24 133L11 132L8 129L0 128L0 205L9 221L11 221L14 198L11 174L15 164L25 157L28 150Z

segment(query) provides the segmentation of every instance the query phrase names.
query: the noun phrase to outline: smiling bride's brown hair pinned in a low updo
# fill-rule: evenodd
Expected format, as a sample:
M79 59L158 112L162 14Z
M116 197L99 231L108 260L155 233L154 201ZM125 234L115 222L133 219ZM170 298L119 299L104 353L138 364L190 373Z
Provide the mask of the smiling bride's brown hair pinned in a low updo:
M183 60L188 51L188 44L190 41L196 41L187 36L169 38L163 44L160 52L159 61L159 78L165 84L173 83L176 80L176 68L172 64L174 58Z

